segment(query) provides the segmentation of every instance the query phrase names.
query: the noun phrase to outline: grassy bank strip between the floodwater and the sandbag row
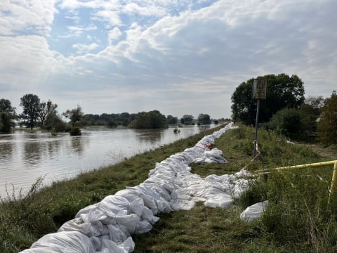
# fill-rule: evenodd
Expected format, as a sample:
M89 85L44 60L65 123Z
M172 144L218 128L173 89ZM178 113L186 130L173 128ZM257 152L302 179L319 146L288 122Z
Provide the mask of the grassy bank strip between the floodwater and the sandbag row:
M15 197L20 193L13 194L9 188L8 197L4 198L0 207L0 231L7 232L0 235L3 245L0 252L18 252L30 247L42 235L57 231L62 223L73 219L79 209L99 202L126 186L139 185L147 179L156 162L195 145L204 135L220 128L218 126L156 150L134 155L110 167L94 169L72 180L54 182L47 188L40 189L43 180L39 180L23 199L20 199L22 196Z

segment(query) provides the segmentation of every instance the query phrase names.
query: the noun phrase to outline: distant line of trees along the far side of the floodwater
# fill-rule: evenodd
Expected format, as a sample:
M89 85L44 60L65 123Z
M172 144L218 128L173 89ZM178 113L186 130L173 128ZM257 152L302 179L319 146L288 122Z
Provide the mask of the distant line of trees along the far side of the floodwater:
M5 98L0 100L0 132L8 133L15 126L15 122L30 129L39 126L41 129L53 132L70 131L70 134L73 135L81 134L80 126L105 125L108 127L128 126L135 129L157 129L178 123L178 117L172 115L166 117L158 110L132 114L122 112L85 115L79 105L77 108L62 112L62 116L69 120L69 122L65 122L58 113L57 104L51 102L51 100L41 101L39 96L31 93L20 98L20 106L22 106L22 113L18 115L10 100ZM194 124L195 121L192 115L184 115L180 122L182 124ZM209 115L201 113L197 123L210 124L211 118Z

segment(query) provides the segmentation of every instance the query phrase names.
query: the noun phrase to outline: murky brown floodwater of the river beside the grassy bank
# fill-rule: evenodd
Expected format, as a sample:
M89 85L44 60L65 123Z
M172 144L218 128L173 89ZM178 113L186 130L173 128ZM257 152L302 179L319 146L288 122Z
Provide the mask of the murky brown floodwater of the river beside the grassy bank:
M81 136L51 136L42 131L0 135L0 196L6 194L6 183L27 189L39 176L45 177L46 184L71 178L203 130L184 126L174 134L173 129L83 129Z

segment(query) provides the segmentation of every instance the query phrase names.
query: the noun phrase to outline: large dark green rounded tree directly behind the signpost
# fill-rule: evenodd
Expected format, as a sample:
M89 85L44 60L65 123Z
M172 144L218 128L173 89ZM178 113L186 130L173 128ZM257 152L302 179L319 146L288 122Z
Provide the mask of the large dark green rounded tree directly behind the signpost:
M257 79L267 81L267 97L260 100L259 122L268 122L272 115L282 108L296 108L304 102L303 82L297 75L267 74ZM255 124L256 103L252 98L253 81L240 84L232 94L232 118L245 124Z

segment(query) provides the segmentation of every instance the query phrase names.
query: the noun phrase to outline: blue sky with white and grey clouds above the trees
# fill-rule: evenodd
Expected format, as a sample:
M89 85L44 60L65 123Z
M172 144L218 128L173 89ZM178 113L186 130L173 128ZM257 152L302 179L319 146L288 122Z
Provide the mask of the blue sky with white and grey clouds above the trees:
M61 114L232 115L248 79L337 89L336 0L1 0L0 99Z

